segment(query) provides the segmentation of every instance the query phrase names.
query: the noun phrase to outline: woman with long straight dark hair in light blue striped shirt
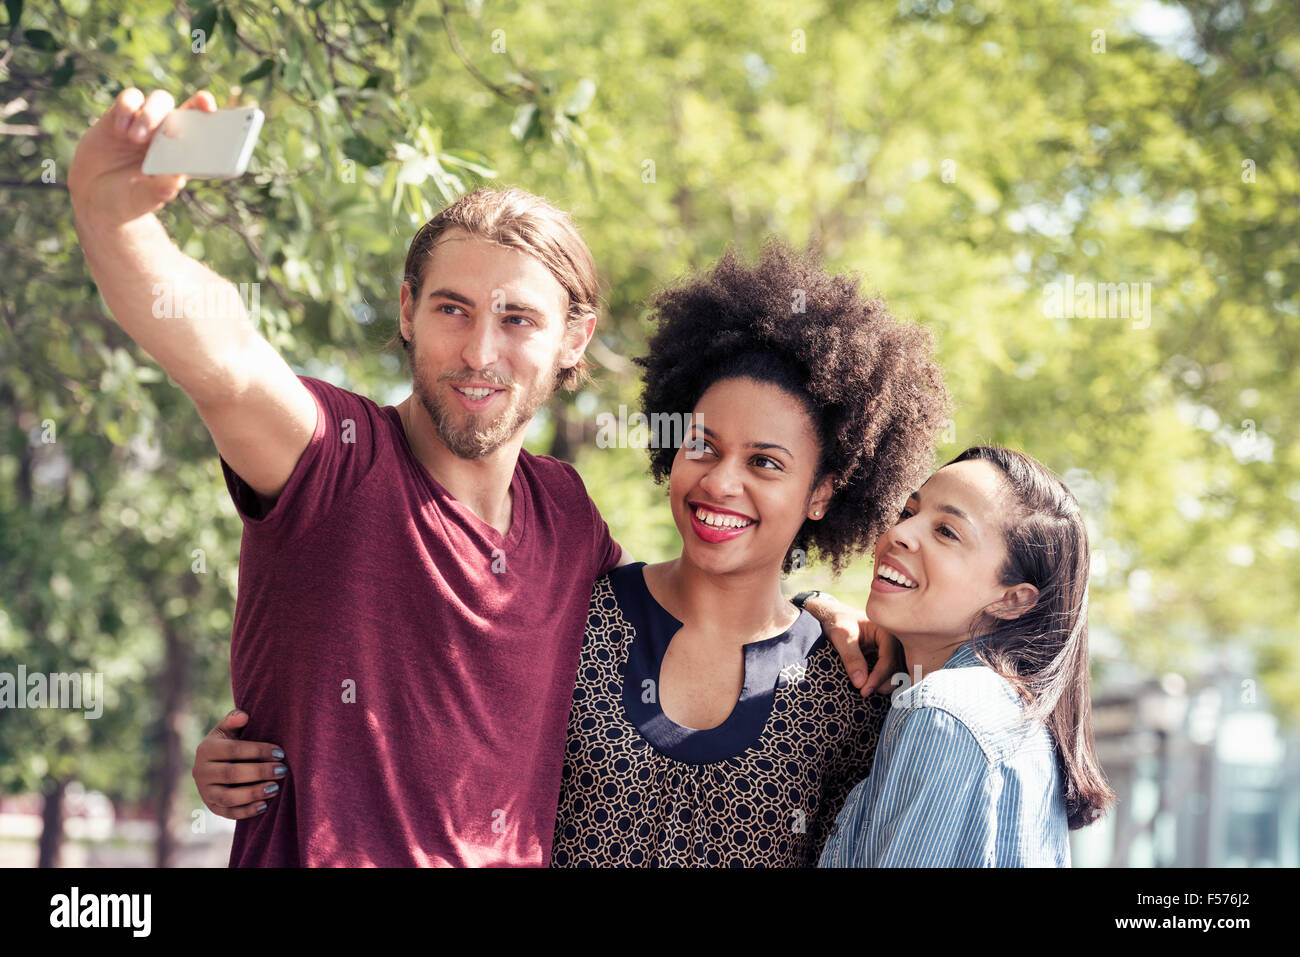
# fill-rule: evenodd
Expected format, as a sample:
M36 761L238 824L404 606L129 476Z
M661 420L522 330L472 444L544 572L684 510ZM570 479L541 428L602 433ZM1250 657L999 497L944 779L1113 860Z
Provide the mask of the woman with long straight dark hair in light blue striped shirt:
M867 614L904 646L870 776L822 866L1069 866L1113 802L1092 742L1088 533L1041 463L967 449L876 545Z

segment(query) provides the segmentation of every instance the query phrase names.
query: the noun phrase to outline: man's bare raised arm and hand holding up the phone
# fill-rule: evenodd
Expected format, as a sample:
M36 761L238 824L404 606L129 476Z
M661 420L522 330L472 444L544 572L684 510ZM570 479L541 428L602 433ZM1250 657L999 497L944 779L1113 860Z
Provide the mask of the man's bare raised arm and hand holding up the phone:
M186 183L140 172L172 107L166 92L127 88L82 137L68 173L77 234L118 325L194 400L226 463L274 498L312 438L316 402L235 287L181 252L153 215ZM216 108L208 92L181 107Z

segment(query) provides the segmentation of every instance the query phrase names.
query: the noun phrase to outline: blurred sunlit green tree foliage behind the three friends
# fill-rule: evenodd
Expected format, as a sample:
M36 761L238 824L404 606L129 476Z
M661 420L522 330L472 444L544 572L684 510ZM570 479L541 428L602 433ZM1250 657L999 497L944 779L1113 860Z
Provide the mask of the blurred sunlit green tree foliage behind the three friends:
M819 248L935 332L957 408L936 465L1005 443L1079 495L1100 677L1236 667L1300 715L1294 4L5 7L0 670L103 672L108 703L0 713L0 787L156 794L159 740L187 767L231 705L239 523L198 415L99 300L62 187L126 85L265 111L250 174L164 221L261 283L298 371L381 402L407 391L384 343L416 228L485 182L572 211L604 369L529 447L576 459L644 560L679 545L663 492L594 436L636 408L649 295L767 234ZM1149 283L1149 315L1053 315L1066 277ZM864 601L868 576L833 589Z

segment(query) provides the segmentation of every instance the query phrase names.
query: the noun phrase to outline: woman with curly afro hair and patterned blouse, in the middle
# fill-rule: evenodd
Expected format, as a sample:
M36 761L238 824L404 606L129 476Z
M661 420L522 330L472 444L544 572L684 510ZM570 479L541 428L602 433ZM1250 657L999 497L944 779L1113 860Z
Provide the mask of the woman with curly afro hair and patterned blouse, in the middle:
M776 242L654 312L644 411L686 425L650 469L682 547L595 583L551 863L814 866L889 698L783 572L837 573L893 524L933 464L942 373L922 328Z

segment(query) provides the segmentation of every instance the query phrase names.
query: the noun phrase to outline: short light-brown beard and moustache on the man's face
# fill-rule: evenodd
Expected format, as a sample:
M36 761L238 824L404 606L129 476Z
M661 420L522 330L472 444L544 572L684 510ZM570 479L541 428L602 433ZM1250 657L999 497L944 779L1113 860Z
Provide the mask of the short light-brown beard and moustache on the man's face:
M419 354L420 351L412 338L410 350L411 378L416 398L420 399L420 404L429 413L433 426L438 430L438 438L460 459L481 459L500 449L520 428L529 423L537 413L537 410L554 394L555 385L559 384L562 377L560 364L556 360L555 368L551 369L551 380L554 382L551 389L536 389L525 393L517 400L512 398L512 393L507 391L506 407L495 419L488 420L482 413L468 412L463 407L452 404L455 399L446 395L441 389L442 384L455 384L458 381L489 382L490 385L499 385L508 389L511 382L490 372L474 373L469 369L464 369L454 376L442 376L437 382L433 382L430 381L429 371L419 360ZM462 416L468 416L468 423L459 424L458 419Z

